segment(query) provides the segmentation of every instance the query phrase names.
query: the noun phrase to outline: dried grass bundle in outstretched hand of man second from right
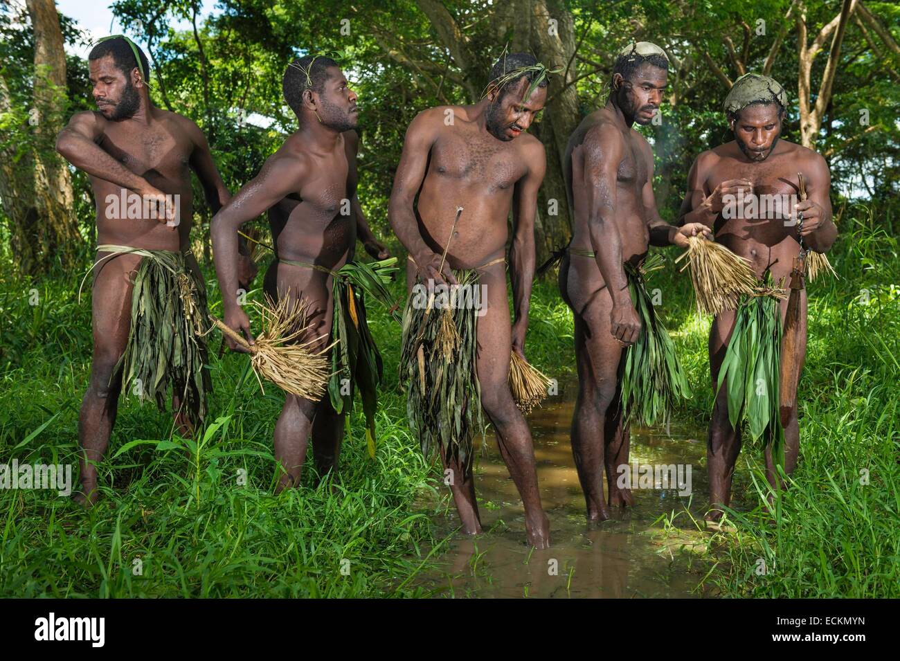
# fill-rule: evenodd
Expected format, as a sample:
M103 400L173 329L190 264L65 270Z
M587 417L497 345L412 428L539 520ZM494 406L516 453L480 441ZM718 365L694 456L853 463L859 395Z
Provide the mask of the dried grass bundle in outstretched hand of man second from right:
M688 237L688 250L676 258L681 267L690 269L690 281L694 285L697 308L701 314L717 315L723 310L737 307L743 295L750 295L756 285L756 276L750 262L734 255L732 251L703 237Z

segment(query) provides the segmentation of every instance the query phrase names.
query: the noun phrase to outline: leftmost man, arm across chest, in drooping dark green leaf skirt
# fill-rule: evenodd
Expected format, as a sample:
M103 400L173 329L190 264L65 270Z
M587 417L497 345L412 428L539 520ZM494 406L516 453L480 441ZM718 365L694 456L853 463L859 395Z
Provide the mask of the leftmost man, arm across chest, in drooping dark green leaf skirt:
M190 170L212 210L229 192L197 125L151 103L148 61L131 40L100 40L88 61L98 110L76 113L59 132L57 151L90 176L97 208L94 358L78 417L75 495L89 506L98 496L96 463L109 443L123 381L160 409L171 389L185 435L206 414L206 293L189 250Z

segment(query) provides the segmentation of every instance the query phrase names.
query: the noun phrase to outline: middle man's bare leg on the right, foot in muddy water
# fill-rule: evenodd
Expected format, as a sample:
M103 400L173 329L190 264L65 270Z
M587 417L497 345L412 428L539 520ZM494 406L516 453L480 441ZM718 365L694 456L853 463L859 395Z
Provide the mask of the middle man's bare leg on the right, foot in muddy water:
M538 492L535 449L525 416L518 410L509 389L512 335L503 264L482 272L481 283L487 295L485 314L478 320L477 369L482 408L497 430L500 455L522 496L528 541L538 549L545 549L550 545L550 522Z

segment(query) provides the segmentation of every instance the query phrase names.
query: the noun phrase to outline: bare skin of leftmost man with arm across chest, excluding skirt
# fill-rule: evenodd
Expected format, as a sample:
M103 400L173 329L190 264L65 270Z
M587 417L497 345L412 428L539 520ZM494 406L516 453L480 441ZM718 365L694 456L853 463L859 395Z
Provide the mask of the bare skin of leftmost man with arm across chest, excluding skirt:
M137 110L128 117L112 119L129 80L138 94ZM151 250L186 248L193 217L191 171L200 180L211 209L218 210L229 200L206 138L193 121L153 107L137 67L126 74L112 56L90 60L90 81L99 111L76 113L59 132L56 148L69 163L90 175L97 207L97 243ZM139 219L108 217L106 196L120 197L122 189L160 202L157 219L149 218L151 214L145 215L143 209ZM174 209L169 206L166 213L161 203L166 194L181 196L177 226L173 224ZM114 216L114 211L110 215ZM106 255L98 252L96 260ZM96 466L109 444L121 391L121 377L112 383L110 379L128 341L131 278L140 260L139 255L117 255L94 267L94 357L78 415L81 487L73 496L85 506L93 505L99 496ZM199 273L193 255L187 255L187 262ZM173 397L175 426L189 435L193 430L179 413L179 406L178 397Z

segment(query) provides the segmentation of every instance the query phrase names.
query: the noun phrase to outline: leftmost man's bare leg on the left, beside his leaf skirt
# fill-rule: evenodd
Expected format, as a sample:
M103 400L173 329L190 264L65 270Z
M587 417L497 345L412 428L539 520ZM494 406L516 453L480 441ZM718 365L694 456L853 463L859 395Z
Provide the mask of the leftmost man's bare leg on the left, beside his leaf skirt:
M97 258L107 253L99 253ZM121 374L112 380L112 369L125 352L131 327L131 276L139 255L117 255L94 267L92 317L94 356L91 377L78 413L78 456L81 490L73 496L91 506L99 497L97 464L103 460L119 408Z

